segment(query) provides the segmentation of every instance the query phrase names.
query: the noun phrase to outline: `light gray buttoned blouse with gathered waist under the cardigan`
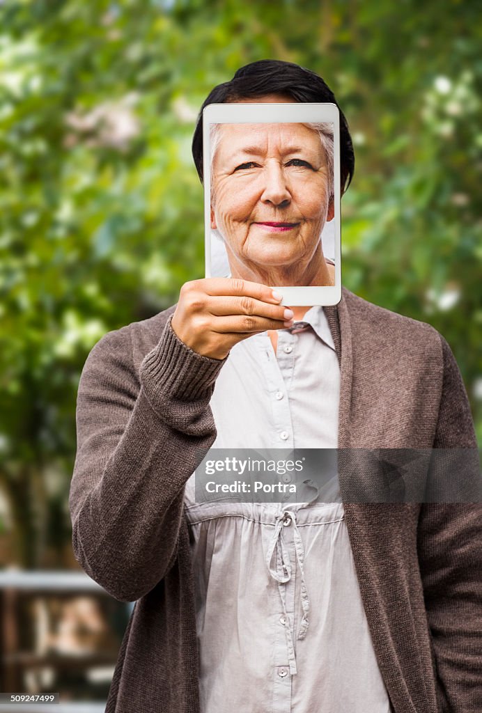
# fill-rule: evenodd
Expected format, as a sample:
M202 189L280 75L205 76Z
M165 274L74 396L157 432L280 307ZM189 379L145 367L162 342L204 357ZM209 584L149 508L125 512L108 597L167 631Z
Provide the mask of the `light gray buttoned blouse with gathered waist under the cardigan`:
M266 332L233 347L210 403L213 448L337 447L339 365L322 307L304 323L278 332L276 356ZM305 483L303 503L196 503L194 485L202 712L389 713L339 491L326 502Z

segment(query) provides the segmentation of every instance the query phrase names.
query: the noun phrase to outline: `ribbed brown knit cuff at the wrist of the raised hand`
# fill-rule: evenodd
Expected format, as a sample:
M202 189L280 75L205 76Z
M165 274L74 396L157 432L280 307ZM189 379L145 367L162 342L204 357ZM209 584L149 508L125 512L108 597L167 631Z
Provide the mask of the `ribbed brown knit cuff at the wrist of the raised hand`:
M158 344L140 366L140 379L148 391L179 401L211 396L225 359L210 359L193 352L171 327L170 315Z

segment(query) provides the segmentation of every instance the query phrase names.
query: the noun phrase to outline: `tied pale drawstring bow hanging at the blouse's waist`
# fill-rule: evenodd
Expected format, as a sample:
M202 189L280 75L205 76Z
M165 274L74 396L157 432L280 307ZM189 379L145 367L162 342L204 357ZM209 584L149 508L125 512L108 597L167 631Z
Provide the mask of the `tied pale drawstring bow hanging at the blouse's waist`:
M284 591L284 584L289 582L292 575L292 565L289 560L289 553L287 547L283 540L282 530L284 526L292 523L293 528L293 542L294 542L294 552L296 555L296 560L299 566L299 573L301 575L301 586L300 586L300 597L302 605L302 620L299 625L298 639L304 639L309 626L309 597L307 592L307 586L304 581L304 548L301 535L299 534L298 525L296 522L296 515L291 511L285 511L282 515L276 518L275 531L270 540L270 545L266 553L266 564L268 571L272 578L278 583L278 591L280 592L280 598L283 607L283 615L286 621L286 639L287 639L287 649L288 649L288 660L289 660L289 673L294 675L297 673L296 657L294 655L294 643L293 643L293 630L292 625L287 615L286 610L286 596ZM273 564L273 558L276 558Z

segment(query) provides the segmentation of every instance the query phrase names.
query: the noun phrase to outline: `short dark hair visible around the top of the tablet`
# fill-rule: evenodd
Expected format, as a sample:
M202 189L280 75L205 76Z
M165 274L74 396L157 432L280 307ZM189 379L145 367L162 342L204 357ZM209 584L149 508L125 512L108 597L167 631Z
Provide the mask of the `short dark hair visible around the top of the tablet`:
M229 82L218 84L202 104L193 136L193 158L202 183L202 110L208 104L224 104L240 99L256 99L267 94L284 94L299 102L331 102L334 93L321 77L292 62L261 59L241 67ZM342 193L352 183L355 155L344 113L339 108L340 173Z

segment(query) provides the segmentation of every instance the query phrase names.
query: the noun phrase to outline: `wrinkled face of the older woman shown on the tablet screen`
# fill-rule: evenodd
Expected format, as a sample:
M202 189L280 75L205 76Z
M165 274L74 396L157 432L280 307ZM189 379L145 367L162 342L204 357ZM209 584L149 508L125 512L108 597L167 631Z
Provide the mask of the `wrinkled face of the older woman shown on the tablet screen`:
M302 123L220 124L211 226L245 265L309 262L333 217L319 133Z

